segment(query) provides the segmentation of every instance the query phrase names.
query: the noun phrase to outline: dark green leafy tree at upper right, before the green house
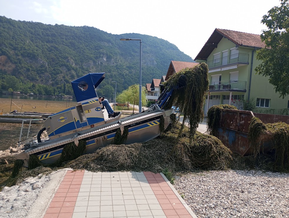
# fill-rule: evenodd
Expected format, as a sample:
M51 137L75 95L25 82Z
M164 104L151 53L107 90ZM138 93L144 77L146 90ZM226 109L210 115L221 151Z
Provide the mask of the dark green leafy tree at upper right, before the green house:
M275 86L280 97L289 94L289 0L281 0L263 16L261 23L268 30L263 30L261 39L266 47L257 51L256 58L262 63L255 68L256 73L269 77L269 83Z

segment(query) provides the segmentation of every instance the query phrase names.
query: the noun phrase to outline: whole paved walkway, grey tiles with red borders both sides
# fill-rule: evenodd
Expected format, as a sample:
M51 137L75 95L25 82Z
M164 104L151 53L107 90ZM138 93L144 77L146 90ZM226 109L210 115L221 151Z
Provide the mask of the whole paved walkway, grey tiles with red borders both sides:
M160 173L67 171L44 218L196 217Z

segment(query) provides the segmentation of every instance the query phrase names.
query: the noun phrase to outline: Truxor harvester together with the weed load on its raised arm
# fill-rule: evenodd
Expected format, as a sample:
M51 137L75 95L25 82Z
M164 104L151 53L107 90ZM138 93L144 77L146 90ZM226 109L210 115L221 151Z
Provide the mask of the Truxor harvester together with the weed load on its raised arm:
M37 165L56 166L110 144L146 142L158 137L173 121L174 116L171 115L175 110L171 109L172 105L184 111L184 120L189 120L192 136L203 118L204 94L208 87L207 72L207 65L201 63L176 73L161 85L163 91L156 104L124 118L120 118L121 112L108 118L108 112L98 100L96 88L105 78L105 73L82 76L71 82L76 106L49 116L37 140L27 141L24 151L15 157L23 160L22 166L28 168ZM184 96L186 101L182 101ZM44 130L47 131L48 140L40 139Z

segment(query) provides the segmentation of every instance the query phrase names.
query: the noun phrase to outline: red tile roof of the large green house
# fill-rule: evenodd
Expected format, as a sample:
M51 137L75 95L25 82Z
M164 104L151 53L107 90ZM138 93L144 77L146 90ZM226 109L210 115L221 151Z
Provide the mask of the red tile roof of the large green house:
M238 32L229 29L216 29L217 32L227 37L229 40L239 46L249 46L264 48L266 45L262 42L260 35L247 32Z

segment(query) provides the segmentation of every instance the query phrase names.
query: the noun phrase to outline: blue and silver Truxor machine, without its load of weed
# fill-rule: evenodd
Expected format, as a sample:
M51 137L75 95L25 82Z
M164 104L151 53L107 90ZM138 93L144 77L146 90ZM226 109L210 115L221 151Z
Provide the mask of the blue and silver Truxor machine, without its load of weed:
M112 144L116 131L128 128L128 137L123 142L131 144L146 142L160 135L160 119L164 118L164 128L171 123L170 115L174 109L162 109L170 100L172 90L160 95L156 104L141 113L120 118L121 112L108 118L108 112L98 101L96 88L105 78L105 73L89 73L72 81L72 88L77 100L74 107L49 116L45 127L40 130L37 140L28 140L24 151L16 159L24 160L28 166L29 155L37 155L42 163L53 163L60 158L63 147L70 142L78 145L78 140L86 141L83 154L93 153L100 147ZM46 130L49 140L41 140L40 135Z

